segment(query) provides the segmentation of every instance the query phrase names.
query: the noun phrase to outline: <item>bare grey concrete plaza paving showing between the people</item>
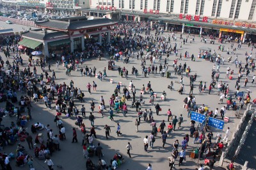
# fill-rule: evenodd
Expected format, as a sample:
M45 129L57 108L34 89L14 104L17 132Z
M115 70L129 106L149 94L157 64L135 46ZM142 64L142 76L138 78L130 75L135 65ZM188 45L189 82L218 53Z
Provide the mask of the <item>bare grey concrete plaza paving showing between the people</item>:
M1 22L2 23L2 22ZM14 24L13 24L14 25ZM164 35L168 35L168 33L164 33ZM179 37L180 33L177 33L177 37ZM183 35L185 37L186 35ZM179 39L179 38L178 38ZM188 38L188 42L190 40L190 37ZM199 81L204 81L207 82L207 88L209 86L209 82L211 81L211 69L214 63L210 63L209 61L205 61L204 59L199 59L197 58L197 54L199 52L199 47L209 47L212 50L216 50L217 53L221 54L221 56L225 57L225 61L227 61L227 58L230 56L233 56L235 58L235 55L227 55L227 48L230 47L230 44L225 44L225 50L223 52L217 51L218 49L218 41L215 41L216 43L214 45L209 44L209 38L207 41L207 44L201 43L200 38L198 38L198 35L195 36L195 42L194 43L186 43L186 45L183 45L182 48L179 48L179 43L180 40L177 40L177 48L179 50L179 53L182 53L182 56L184 56L184 52L188 51L189 55L194 54L196 57L195 62L191 61L191 58L183 58L181 61L178 61L179 63L182 63L182 65L186 62L187 66L191 68L191 74L194 75L197 73L198 78L196 79L195 82L195 88L194 88L194 94L196 97L196 103L198 105L205 104L207 107L209 107L209 110L214 111L216 107L219 109L223 107L225 104L218 104L219 101L219 96L217 95L217 90L212 89L211 95L208 95L207 91L204 93L199 93L198 91L198 82ZM174 45L174 42L171 42L172 45ZM237 47L237 43L235 43L235 46ZM238 56L239 60L242 60L243 65L244 65L244 53L247 51L250 53L250 48L248 48L246 45L242 45L242 48L237 50L236 55ZM254 53L255 54L255 53ZM255 57L253 54L253 58ZM1 54L1 56L4 56ZM24 58L24 66L28 66L28 56L22 56ZM5 57L3 57L5 60ZM163 57L161 63L163 64L164 58ZM180 80L179 76L174 75L173 68L172 68L172 63L173 59L175 59L175 56L173 54L170 55L170 61L168 61L169 69L172 71L172 77L171 79L167 79L166 77L160 77L159 73L157 74L150 74L147 77L144 77L144 75L141 74L140 70L140 60L137 61L136 58L134 59L129 59L129 63L126 65L122 62L117 62L116 63L116 68L118 66L128 68L129 70L129 77L128 79L121 78L118 76L118 71L115 69L115 71L110 71L107 70L107 75L106 80L100 82L99 79L96 79L95 77L81 77L80 72L71 72L71 76L67 77L65 75L65 68L60 66L60 70L56 70L54 61L52 61L52 69L56 71L56 82L57 83L63 83L66 82L69 84L71 80L74 81L74 86L77 88L81 88L82 91L84 91L85 94L85 100L86 102L83 103L86 107L86 118L84 119L83 123L86 125L86 132L90 130L90 121L88 120L88 115L89 115L89 105L90 101L93 100L95 104L98 106L100 102L100 96L103 96L106 105L108 105L108 99L111 97L113 94L113 91L117 85L117 82L122 82L122 88L124 86L129 86L129 82L132 81L134 83L134 86L136 86L137 92L136 92L136 97L139 96L140 89L142 87L142 84L145 84L147 86L148 81L151 82L152 84L152 89L154 89L155 93L157 93L157 99L155 104L159 104L162 108L162 111L160 112L159 116L156 115L156 109L154 106L152 106L149 103L149 95L145 94L143 95L144 100L145 100L145 105L142 106L142 110L144 111L145 109L152 109L153 114L154 114L154 119L157 122L157 127L160 125L162 120L167 122L167 116L166 112L168 109L171 109L173 115L179 116L180 114L184 115L184 123L182 123L182 128L179 128L175 130L175 132L172 132L171 137L168 137L166 140L166 146L165 148L162 148L162 140L160 137L160 134L156 137L156 142L154 143L154 148L148 148L148 151L145 152L143 150L143 138L145 135L149 135L150 132L152 131L152 127L150 127L150 124L148 122L143 121L141 119L141 124L139 127L139 132L136 132L136 128L134 126L134 121L138 117L137 112L135 108L131 108L131 101L128 101L127 104L129 105L128 107L128 113L127 117L124 118L122 113L116 114L114 117L115 121L110 121L108 118L108 112L104 111L104 118L101 118L100 114L98 112L94 112L95 116L95 128L96 128L96 133L97 133L97 139L93 139L93 144L97 145L97 143L100 143L102 148L103 148L103 153L104 157L102 159L106 160L107 164L109 164L110 159L113 158L113 155L115 153L121 153L124 155L125 158L125 163L122 164L122 166L118 167L118 169L130 169L130 170L140 170L140 169L147 169L147 164L150 163L152 164L153 169L169 169L168 167L168 157L171 156L172 150L173 150L173 142L176 139L179 139L180 143L184 137L184 135L189 134L189 123L190 123L190 118L188 118L188 114L186 112L186 109L183 108L183 100L185 97L188 97L189 93L189 79L185 77L184 75L184 84L185 84L185 93L182 95L179 95L177 90L180 87L179 83L174 83L174 90L170 91L170 89L167 88L168 84L170 84L171 81L175 82ZM12 59L9 59L12 61ZM147 60L147 66L150 65L150 61ZM157 61L156 65L159 66L159 62ZM98 59L89 59L86 60L83 63L83 67L88 66L88 67L93 67L95 66L98 71L102 71L104 67L108 66L108 58L103 58L101 61ZM134 77L134 75L131 75L131 68L132 66L136 67L139 70L139 76ZM234 79L230 81L229 79L225 79L225 73L226 73L226 68L227 66L230 66L231 70L234 69ZM23 68L23 67L21 67ZM36 67L38 74L41 73L40 67ZM234 86L236 84L236 79L237 79L237 72L238 70L236 69L236 66L231 63L225 62L225 65L221 65L220 68L220 81L226 82L229 84L230 87L230 94L234 94ZM50 73L51 75L51 73ZM246 88L243 87L243 82L244 82L244 77L241 81L241 91L244 91L246 89L251 89L254 91L255 85L251 84L250 82L252 81L252 75L253 73L250 73L249 76L249 82L248 86ZM114 83L111 84L109 82L109 79L113 79ZM92 91L92 95L88 93L86 90L86 84L90 82L92 84L92 81L95 81L97 84L97 91ZM163 91L166 91L167 93L167 99L166 101L162 101L160 99L161 93ZM23 94L26 95L26 94ZM123 94L122 94L123 95ZM255 93L251 94L252 99L255 98ZM77 108L81 108L81 103L76 101L76 106ZM40 121L40 123L43 123L44 125L49 124L50 127L53 129L54 134L58 134L58 128L56 127L56 124L54 123L54 116L56 115L56 111L54 109L50 110L49 108L46 109L44 102L39 102L38 104L33 103L33 108L32 108L32 117L33 120L29 121L29 123L26 125L28 127L28 132L30 131L31 124L36 123L36 121ZM54 104L52 104L54 105ZM4 104L1 104L1 107L4 107ZM109 110L109 107L107 108ZM95 109L96 111L98 110L97 107ZM237 123L239 123L239 119L236 118L235 112L234 111L227 111L227 115L229 117L229 122L225 123L224 130L218 130L216 128L211 128L212 132L216 134L217 132L221 133L224 135L224 132L227 130L227 127L231 128L231 132L233 133ZM220 115L218 115L218 118L220 119ZM15 121L16 118L9 118L5 117L3 118L3 124L6 126L10 125L11 121ZM83 147L81 146L82 143L82 134L79 132L79 129L75 125L76 118L66 118L65 116L61 116L61 120L63 120L64 126L67 130L66 136L67 140L66 141L61 141L60 143L60 148L61 151L55 151L52 154L52 161L54 164L59 164L63 166L63 169L85 169L85 162L86 159L83 157ZM122 137L116 137L115 131L116 131L116 123L120 123L121 125L121 131L122 131ZM111 127L111 137L106 140L105 137L105 132L104 132L104 125L109 125ZM197 126L197 123L196 123ZM77 139L79 140L78 143L71 143L72 141L72 127L77 128ZM42 133L44 134L45 140L47 138L46 131L43 130ZM230 135L231 137L232 135ZM33 135L33 139L35 139L35 135ZM216 138L214 137L214 140ZM186 152L187 159L184 161L182 166L178 167L177 166L177 161L175 161L175 168L174 169L195 169L196 164L197 164L197 159L192 159L189 158L191 150L196 147L200 147L199 144L193 144L192 143L192 138L189 139L188 143L188 150ZM126 153L125 146L127 143L130 142L132 144L132 150L131 150L131 156L132 158L129 158ZM18 143L20 143L18 141ZM29 150L28 144L26 142L21 143L22 145L25 146L26 150L30 155L33 155L33 150ZM17 147L17 144L14 146L6 146L2 152L10 153L15 151ZM179 151L180 151L179 147ZM97 164L97 157L93 157L92 161L94 164ZM200 160L200 163L203 163L204 160ZM34 166L35 169L47 169L47 165L44 164L43 160L38 160L37 158L34 159ZM218 166L218 162L216 162L216 166ZM15 167L15 160L12 160L12 167L14 169L27 169L28 166L26 167ZM55 168L58 169L58 168ZM216 167L214 169L220 169L220 167Z

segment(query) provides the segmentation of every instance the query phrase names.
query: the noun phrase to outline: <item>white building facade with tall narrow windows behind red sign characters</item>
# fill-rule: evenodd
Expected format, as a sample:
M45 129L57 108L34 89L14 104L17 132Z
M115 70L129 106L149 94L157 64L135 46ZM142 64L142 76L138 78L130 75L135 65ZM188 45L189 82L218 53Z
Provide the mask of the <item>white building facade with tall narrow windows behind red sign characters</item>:
M90 8L115 7L147 13L200 15L212 19L256 21L256 0L88 0Z

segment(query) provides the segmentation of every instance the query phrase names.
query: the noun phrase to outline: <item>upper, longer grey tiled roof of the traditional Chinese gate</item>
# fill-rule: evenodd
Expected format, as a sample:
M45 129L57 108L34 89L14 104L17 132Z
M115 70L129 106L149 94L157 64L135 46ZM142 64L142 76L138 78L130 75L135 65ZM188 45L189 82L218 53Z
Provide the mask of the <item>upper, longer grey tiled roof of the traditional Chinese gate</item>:
M44 22L36 22L36 25L39 27L52 28L62 31L76 30L76 29L86 29L91 27L100 27L100 26L111 26L117 24L111 19L94 19L94 20L79 20L77 21L64 21L64 20L48 20Z

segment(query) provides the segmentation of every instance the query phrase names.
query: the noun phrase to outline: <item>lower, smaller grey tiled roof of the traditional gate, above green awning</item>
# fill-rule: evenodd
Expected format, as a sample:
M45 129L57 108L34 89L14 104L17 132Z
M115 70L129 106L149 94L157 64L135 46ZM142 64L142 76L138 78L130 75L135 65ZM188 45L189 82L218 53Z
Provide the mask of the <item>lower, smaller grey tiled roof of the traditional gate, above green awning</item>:
M29 31L26 33L23 33L22 36L33 38L36 40L51 40L54 38L61 38L67 36L67 34L61 32L61 31L52 31L52 32L45 32L45 31Z

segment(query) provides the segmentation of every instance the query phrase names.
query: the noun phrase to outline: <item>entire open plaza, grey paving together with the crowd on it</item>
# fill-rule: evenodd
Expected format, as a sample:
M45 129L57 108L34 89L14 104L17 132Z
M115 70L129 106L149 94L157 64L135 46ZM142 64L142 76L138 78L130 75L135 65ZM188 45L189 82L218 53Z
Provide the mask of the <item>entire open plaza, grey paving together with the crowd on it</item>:
M119 22L110 43L51 60L2 37L1 169L214 169L235 112L255 102L255 49L230 36Z

